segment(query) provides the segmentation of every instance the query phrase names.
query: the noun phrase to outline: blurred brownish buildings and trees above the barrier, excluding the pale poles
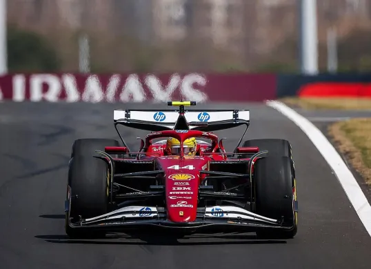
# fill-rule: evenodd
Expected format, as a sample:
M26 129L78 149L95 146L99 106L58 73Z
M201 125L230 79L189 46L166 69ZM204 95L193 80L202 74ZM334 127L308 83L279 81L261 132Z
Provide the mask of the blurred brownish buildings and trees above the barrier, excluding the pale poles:
M9 72L300 72L297 0L7 5ZM371 0L319 0L317 23L319 72L329 44L339 72L371 70Z

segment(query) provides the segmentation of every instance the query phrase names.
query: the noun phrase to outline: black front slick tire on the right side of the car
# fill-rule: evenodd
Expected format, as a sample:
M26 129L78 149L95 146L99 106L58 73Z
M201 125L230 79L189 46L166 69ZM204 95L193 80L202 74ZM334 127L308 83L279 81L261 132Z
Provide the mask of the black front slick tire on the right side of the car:
M297 234L297 213L294 212L296 190L292 175L290 157L268 156L254 163L254 197L256 212L271 219L281 219L280 228L259 230L257 236L263 239L290 239Z

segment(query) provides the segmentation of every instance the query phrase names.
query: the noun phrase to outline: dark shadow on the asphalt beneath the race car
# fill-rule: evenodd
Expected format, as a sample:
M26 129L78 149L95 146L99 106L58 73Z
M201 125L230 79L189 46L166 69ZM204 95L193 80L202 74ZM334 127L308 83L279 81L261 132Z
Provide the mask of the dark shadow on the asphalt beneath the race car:
M67 235L37 235L49 243L94 244L94 245L137 245L137 246L212 246L244 244L287 243L285 240L261 240L255 235L190 235L181 239L159 235L107 235L96 239L70 239ZM128 240L130 239L130 240ZM233 241L232 241L233 240Z

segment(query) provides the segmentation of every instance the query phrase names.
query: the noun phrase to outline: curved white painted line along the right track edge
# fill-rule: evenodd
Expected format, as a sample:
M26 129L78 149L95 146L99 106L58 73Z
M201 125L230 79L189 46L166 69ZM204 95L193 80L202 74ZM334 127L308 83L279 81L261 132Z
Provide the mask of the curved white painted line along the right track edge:
M361 219L363 226L367 230L368 234L371 236L371 206L368 203L364 193L359 187L357 180L354 178L354 175L346 164L344 163L343 159L341 159L339 153L335 148L332 146L330 141L323 135L323 133L313 125L308 119L301 116L299 113L295 112L285 104L279 101L267 101L267 106L270 106L282 114L284 114L288 119L293 121L303 132L305 135L309 137L312 141L314 146L321 152L321 155L325 160L328 162L334 174L339 179L343 190L345 191L350 203L356 210L359 219Z

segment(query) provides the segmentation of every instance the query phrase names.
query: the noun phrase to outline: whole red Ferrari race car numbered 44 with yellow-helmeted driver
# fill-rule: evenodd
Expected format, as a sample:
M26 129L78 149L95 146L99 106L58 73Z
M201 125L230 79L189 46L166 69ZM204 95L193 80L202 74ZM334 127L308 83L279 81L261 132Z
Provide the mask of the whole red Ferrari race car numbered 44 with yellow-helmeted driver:
M297 190L290 143L241 142L249 110L114 110L121 141L79 139L72 145L65 203L70 237L163 229L256 232L290 239L297 234ZM132 152L117 126L148 130ZM226 152L213 132L246 126Z

